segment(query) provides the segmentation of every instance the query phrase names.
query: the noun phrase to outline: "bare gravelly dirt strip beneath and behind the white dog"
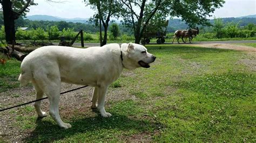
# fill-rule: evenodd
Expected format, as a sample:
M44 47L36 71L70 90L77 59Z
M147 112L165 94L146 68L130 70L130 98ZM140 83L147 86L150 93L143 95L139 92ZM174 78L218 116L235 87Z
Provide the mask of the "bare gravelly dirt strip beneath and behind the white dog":
M126 76L132 76L132 72L125 72ZM123 75L122 75L123 76ZM81 85L62 83L62 90L68 91L81 87ZM91 97L93 93L92 87L86 87L83 89L68 92L66 94L60 95L59 111L60 116L63 119L69 120L72 118L72 113L74 112L88 112L89 114L97 114L93 112L90 108ZM17 104L22 104L35 100L36 92L33 87L22 87L10 89L5 92L0 93L0 108L7 108ZM44 95L45 97L45 95ZM136 99L134 95L130 95L129 91L123 87L120 88L109 88L106 95L106 106L109 101L120 101L125 99ZM32 111L26 111L25 107L30 106L29 109ZM24 112L25 111L25 112ZM45 111L49 116L49 101L45 99L42 101L42 111ZM22 139L29 136L30 130L22 130L20 127L16 126L18 116L36 116L36 111L33 107L33 103L25 105L22 107L14 108L11 110L6 110L0 112L0 139L6 141L22 141ZM36 122L36 120L35 120Z

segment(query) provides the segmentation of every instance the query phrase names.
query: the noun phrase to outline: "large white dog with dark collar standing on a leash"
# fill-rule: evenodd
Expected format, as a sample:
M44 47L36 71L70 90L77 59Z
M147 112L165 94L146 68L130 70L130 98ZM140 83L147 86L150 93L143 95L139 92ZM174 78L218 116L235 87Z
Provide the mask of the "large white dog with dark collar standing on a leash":
M36 99L46 94L50 115L60 127L69 128L59 116L60 82L94 87L91 108L97 108L103 117L111 114L104 109L107 87L116 81L123 68L149 68L156 56L139 44L109 44L103 47L73 48L45 46L25 57L21 64L21 86L32 81ZM98 101L98 104L96 103ZM39 117L44 117L41 101L35 103Z

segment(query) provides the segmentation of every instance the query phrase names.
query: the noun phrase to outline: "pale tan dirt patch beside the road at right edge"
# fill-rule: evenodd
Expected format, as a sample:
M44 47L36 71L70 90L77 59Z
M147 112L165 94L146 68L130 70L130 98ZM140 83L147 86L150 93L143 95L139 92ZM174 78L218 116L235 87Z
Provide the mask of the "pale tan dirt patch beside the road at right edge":
M234 49L238 51L256 52L256 48L250 46L233 45L233 44L190 44L191 46L206 48Z

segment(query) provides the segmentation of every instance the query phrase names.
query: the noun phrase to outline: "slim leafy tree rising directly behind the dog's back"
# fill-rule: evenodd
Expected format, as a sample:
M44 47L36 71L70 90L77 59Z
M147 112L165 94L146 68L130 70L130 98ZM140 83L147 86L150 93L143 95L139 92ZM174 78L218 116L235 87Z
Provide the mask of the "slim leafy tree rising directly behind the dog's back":
M110 17L117 17L122 11L122 4L119 1L114 0L89 0L84 1L87 5L91 5L93 10L98 12L90 18L91 22L98 24L98 19L102 22L104 27L104 38L101 46L106 45L107 42L107 28L109 27Z

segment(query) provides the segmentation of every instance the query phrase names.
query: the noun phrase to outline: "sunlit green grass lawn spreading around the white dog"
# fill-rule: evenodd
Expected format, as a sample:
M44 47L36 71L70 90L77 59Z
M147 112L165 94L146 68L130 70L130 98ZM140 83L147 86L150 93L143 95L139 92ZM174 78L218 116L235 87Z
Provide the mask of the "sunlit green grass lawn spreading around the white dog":
M42 120L36 113L26 116L35 112L30 107L19 109L21 115L10 111L17 115L21 134L30 134L23 141L256 141L256 73L240 62L255 56L186 45L147 49L157 56L151 68L136 69L111 85L109 92L122 89L136 97L107 102L112 117L70 112L69 117L60 115L72 125L63 130L49 115ZM19 64L10 60L1 67L0 92L17 87Z

